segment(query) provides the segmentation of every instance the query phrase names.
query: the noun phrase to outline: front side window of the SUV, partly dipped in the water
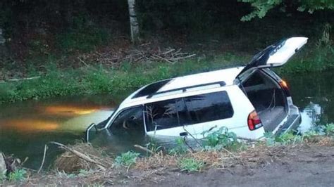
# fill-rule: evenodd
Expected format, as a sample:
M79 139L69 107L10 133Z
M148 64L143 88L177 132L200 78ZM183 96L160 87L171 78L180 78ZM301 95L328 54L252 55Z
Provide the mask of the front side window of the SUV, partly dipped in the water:
M142 106L125 109L118 114L111 124L111 131L114 134L132 134L144 132L144 119Z

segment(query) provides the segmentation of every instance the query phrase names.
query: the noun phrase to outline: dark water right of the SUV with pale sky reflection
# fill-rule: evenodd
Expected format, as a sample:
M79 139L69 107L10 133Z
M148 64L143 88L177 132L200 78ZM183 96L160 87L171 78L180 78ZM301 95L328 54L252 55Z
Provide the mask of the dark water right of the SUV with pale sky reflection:
M282 76L286 79L293 102L302 114L302 132L316 130L334 122L334 72L316 72Z

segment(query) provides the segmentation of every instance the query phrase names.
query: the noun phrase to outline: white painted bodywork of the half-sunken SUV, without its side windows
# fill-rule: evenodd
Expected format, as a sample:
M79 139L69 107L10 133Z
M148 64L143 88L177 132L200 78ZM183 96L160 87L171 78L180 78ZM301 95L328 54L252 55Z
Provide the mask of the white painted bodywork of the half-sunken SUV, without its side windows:
M103 129L108 129L120 112L128 108L138 105L144 106L147 103L165 101L173 98L184 98L203 93L227 91L230 103L233 106L233 117L155 131L147 131L146 125L144 124L146 134L148 136L155 136L156 138L159 136L183 136L185 134L191 134L194 138L203 138L203 131L208 131L209 129L214 131L215 129L218 130L220 127L227 127L230 131L235 132L237 136L241 136L243 138L263 138L265 132L264 127L260 127L254 131L250 131L248 128L247 117L249 113L255 109L249 101L249 98L247 98L245 93L239 88L239 84L242 82L243 78L247 78L247 76L252 74L252 70L261 69L280 86L280 77L269 70L268 67L278 67L284 65L287 60L289 60L306 43L306 37L292 37L284 39L276 44L268 46L264 49L264 51L257 53L251 62L245 67L233 67L224 70L203 72L194 75L167 79L166 84L159 87L159 90L156 91L156 93L150 94L149 96L142 96L139 94L140 96L137 97L136 94L150 84L143 86L141 89L138 89L128 96L128 98L120 104L118 109L113 113L113 115L111 115L109 121L106 122ZM223 84L210 84L215 82L223 82ZM204 84L208 83L210 85L204 86ZM183 89L185 87L192 87L192 89ZM280 122L280 124L277 125L276 129L273 130L273 134L281 134L290 129L295 129L300 122L299 110L295 105L293 105L290 95L286 96L286 101L287 116Z

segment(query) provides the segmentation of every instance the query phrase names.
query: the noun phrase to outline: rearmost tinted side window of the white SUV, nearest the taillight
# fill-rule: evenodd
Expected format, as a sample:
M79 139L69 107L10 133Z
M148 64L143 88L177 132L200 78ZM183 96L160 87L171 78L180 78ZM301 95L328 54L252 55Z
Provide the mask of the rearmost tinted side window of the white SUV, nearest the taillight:
M192 124L223 120L233 116L233 108L226 91L206 93L185 98Z

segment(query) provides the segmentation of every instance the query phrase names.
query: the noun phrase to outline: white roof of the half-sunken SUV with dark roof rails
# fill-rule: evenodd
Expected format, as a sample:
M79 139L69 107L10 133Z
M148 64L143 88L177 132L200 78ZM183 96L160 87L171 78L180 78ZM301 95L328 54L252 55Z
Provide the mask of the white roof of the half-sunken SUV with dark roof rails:
M175 90L185 87L194 87L197 85L202 86L211 83L218 84L218 82L223 82L224 86L230 86L233 85L235 77L242 71L243 68L244 67L233 67L223 70L215 70L210 72L197 73L193 75L186 75L182 77L175 77L173 79L166 79L160 82L155 82L159 84L159 87L154 86L154 93L164 93L163 96L161 96L161 100L163 100L164 97L168 96L168 91L171 91L169 95L173 95L175 94ZM120 108L126 108L131 105L138 105L138 103L141 102L150 103L150 100L156 100L149 96L154 93L149 94L147 93L147 91L145 91L147 94L140 94L140 91L144 90L152 84L143 86L141 89L138 89L137 91L132 93L120 104Z

